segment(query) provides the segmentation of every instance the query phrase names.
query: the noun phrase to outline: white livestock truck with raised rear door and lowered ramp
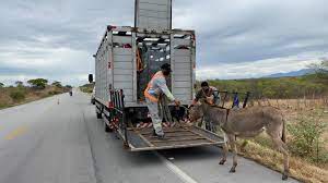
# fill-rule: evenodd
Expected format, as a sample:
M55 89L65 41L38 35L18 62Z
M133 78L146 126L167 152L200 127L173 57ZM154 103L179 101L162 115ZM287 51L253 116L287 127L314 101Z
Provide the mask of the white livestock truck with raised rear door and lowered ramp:
M171 11L171 0L137 0L134 27L108 25L94 54L96 115L104 118L105 131L117 132L131 151L223 142L201 127L167 120L163 122L166 139L152 137L143 90L160 66L171 63L167 85L183 106L191 102L195 93L195 32L172 29ZM169 106L175 119L183 119L184 109Z

